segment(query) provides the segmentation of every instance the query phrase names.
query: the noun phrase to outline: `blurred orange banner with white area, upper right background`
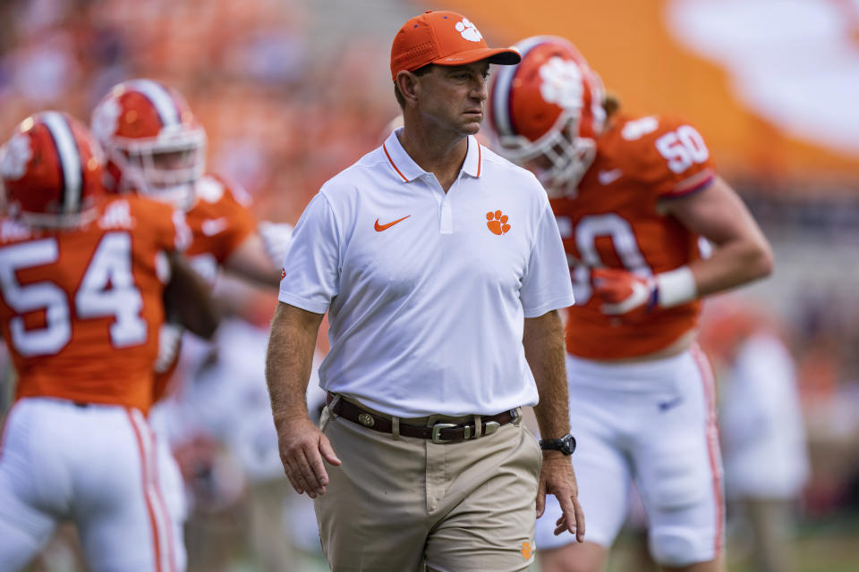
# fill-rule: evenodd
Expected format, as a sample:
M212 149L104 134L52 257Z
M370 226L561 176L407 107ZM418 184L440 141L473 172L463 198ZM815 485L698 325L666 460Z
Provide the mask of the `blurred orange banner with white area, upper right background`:
M839 95L839 80L844 80L845 88L852 87L850 70L859 70L859 57L852 63L827 61L829 68L844 65L844 69L829 74L832 77L824 84L832 88L829 93L821 93L825 89L821 86L816 94L803 82L803 76L790 75L803 71L802 62L778 60L787 60L788 48L795 52L798 48L800 55L811 51L797 46L797 42L811 42L816 29L808 32L809 40L803 39L803 29L790 29L791 23L798 28L804 25L799 20L811 18L805 12L795 13L798 20L786 23L780 12L778 18L772 13L769 21L749 20L760 19L761 6L771 4L753 0L456 0L451 4L455 5L447 4L447 9L472 18L490 43L512 44L538 34L572 40L627 110L673 114L693 122L707 139L721 172L728 176L771 181L787 178L844 187L855 187L859 182L859 130L846 130L850 122L859 121L859 115L829 117L829 126L815 116L831 115L832 109L826 105L838 105L837 99L829 97ZM839 0L799 4L805 4L804 9L816 7L813 14L821 19L827 11L856 10ZM749 6L758 9L757 16L744 13ZM766 13L763 18L766 20ZM826 22L818 22L818 28L824 29L817 36L829 42ZM782 28L761 33L767 26ZM846 32L850 31L847 27ZM855 42L855 38L854 33L845 41ZM851 64L855 67L849 67ZM786 71L785 66L794 67ZM744 83L744 77L750 80ZM805 89L823 100L812 101L811 96L804 100L804 92L796 89ZM854 97L859 102L859 91ZM842 109L850 107L845 99Z

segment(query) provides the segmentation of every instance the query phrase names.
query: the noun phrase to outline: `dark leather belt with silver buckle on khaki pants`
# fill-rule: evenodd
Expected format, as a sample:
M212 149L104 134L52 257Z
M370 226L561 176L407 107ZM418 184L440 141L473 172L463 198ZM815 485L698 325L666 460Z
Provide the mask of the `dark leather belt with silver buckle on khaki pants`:
M326 403L331 405L334 401L334 394L328 393ZM390 419L378 416L375 413L361 408L350 401L344 399L337 400L331 412L336 416L341 416L344 419L363 425L373 431L379 433L393 433L394 424ZM481 436L489 435L498 431L501 425L507 425L519 418L516 409L503 411L498 415L481 416ZM419 439L429 439L434 443L455 443L464 442L477 436L474 423L437 423L431 426L422 425L404 425L401 424L400 434L404 437L417 437Z

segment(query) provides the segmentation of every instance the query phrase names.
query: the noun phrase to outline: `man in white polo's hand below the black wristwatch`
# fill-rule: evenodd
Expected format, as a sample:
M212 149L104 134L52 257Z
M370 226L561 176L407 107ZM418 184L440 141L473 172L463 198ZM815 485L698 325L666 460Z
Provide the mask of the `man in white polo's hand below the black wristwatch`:
M562 515L555 523L555 535L569 531L578 542L584 541L584 512L579 504L579 487L575 483L570 458L559 451L543 451L540 485L537 489L537 517L546 509L546 494L554 494Z

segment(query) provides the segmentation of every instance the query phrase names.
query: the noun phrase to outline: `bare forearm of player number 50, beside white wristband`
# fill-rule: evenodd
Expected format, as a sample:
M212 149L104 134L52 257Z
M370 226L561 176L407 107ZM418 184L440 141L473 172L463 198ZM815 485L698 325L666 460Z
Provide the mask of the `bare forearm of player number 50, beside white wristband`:
M772 251L766 240L744 238L719 245L710 258L689 265L698 296L729 290L769 275Z

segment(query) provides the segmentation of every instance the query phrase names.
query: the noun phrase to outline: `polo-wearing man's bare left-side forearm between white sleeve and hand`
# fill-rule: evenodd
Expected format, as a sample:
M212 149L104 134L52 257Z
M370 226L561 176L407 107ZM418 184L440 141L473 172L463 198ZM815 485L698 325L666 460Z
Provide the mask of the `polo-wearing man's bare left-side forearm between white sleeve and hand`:
M277 306L266 356L266 383L276 426L295 416L308 416L307 384L321 320L322 315L284 303Z

